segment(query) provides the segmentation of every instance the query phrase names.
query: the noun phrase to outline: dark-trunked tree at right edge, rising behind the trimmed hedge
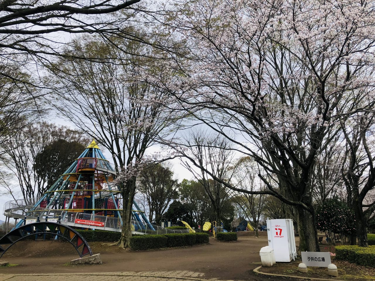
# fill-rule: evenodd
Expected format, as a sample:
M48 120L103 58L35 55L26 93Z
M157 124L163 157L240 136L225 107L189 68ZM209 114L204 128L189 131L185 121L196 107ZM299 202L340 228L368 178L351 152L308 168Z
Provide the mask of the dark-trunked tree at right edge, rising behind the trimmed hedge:
M373 102L374 104L374 102ZM374 112L360 112L351 118L341 118L345 138L342 178L347 190L348 204L354 210L359 245L368 246L366 224L375 211L375 201L364 201L375 187Z

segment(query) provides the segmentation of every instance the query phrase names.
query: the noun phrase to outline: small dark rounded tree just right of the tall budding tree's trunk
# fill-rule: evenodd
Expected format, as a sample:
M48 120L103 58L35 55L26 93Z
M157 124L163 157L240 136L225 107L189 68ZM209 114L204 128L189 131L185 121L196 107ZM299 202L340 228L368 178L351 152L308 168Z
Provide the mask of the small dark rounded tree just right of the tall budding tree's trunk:
M156 164L139 173L139 190L145 194L149 220L160 224L169 203L178 198L178 181L166 164ZM154 218L154 219L153 219Z

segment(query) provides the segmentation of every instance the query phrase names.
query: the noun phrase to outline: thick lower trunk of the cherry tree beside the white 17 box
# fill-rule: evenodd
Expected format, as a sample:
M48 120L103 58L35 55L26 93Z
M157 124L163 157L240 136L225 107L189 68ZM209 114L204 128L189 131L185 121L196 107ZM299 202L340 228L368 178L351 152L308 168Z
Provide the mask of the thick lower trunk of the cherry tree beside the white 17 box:
M320 252L315 217L302 206L296 206L299 224L300 247L298 252Z

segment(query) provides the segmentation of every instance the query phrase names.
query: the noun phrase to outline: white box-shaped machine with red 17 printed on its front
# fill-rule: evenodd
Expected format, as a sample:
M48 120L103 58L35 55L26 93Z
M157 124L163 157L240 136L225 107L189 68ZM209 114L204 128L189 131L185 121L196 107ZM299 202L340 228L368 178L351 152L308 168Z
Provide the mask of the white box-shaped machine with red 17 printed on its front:
M296 259L296 240L293 220L267 220L268 245L273 249L276 262L290 262Z

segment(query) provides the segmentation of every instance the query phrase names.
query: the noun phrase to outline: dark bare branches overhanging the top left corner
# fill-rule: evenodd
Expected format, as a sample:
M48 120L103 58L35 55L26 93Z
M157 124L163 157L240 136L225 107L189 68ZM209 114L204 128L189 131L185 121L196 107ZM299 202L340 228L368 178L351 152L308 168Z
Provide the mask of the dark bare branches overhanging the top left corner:
M41 58L42 54L60 54L53 33L77 34L100 33L114 34L127 25L129 15L111 15L130 6L139 0L118 2L78 0L41 1L6 1L0 5L0 47L6 49L4 56L9 55L15 60L20 54ZM20 28L22 26L22 28ZM61 41L60 43L63 43ZM18 55L18 58L14 54ZM21 56L22 57L22 56Z

